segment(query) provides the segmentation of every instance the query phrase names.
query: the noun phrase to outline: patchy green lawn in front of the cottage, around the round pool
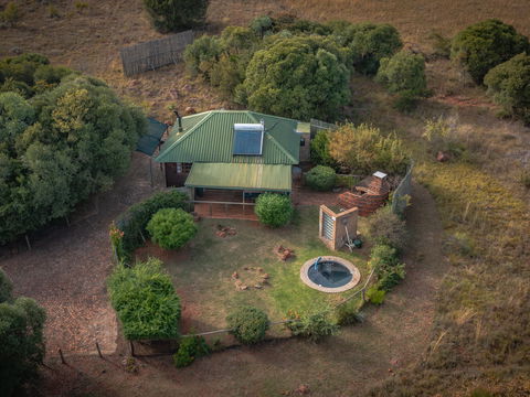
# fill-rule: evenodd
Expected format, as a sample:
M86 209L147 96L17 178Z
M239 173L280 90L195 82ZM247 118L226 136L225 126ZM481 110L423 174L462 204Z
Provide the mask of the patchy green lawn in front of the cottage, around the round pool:
M237 234L225 238L216 236L220 224L234 227ZM359 268L361 282L368 276L365 258L361 255L331 251L318 239L316 206L304 207L293 225L279 229L236 219L201 219L198 225L199 233L187 248L171 253L156 247L147 250L148 255L159 256L165 261L173 278L184 308L184 332L190 328L195 332L223 328L227 312L241 304L261 308L271 320L277 321L288 310L324 310L353 291L325 293L304 285L299 278L300 267L314 257L335 255L347 258ZM294 249L296 257L285 262L279 260L275 254L279 245ZM250 287L248 290L235 288L234 271ZM263 289L253 288L264 272L269 275L268 285Z

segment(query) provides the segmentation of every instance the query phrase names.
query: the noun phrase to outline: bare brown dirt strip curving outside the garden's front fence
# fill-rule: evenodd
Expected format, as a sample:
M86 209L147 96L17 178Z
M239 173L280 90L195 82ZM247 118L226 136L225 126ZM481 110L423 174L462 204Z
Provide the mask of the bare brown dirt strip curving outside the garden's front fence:
M169 356L144 357L136 376L117 366L123 360L119 354L105 361L75 357L68 367L49 360L52 369L44 373L42 391L57 396L72 390L113 396L277 396L304 384L311 396L361 395L413 363L430 341L435 297L447 264L441 253L442 226L434 202L421 186L414 186L407 219L412 234L405 255L407 277L381 308L368 310L362 325L344 328L318 345L277 340L233 348L184 369L176 369Z

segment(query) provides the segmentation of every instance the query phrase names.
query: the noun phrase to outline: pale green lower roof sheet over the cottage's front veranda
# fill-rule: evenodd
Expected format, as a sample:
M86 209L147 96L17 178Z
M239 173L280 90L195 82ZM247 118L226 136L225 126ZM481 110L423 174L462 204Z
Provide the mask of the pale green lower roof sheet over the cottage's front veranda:
M290 165L193 163L186 185L248 191L290 192Z

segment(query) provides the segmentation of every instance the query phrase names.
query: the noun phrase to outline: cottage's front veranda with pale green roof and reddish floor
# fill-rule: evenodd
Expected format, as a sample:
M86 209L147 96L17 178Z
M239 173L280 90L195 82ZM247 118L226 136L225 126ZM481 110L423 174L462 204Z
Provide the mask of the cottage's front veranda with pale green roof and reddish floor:
M186 186L200 216L255 221L255 200L261 193L290 194L290 165L193 163Z

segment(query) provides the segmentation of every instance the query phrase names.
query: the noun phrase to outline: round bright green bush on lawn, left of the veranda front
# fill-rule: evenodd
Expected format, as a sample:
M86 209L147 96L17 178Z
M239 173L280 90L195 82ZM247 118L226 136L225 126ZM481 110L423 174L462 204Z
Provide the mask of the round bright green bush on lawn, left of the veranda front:
M181 208L159 210L146 227L153 243L165 249L182 247L197 233L193 216Z

